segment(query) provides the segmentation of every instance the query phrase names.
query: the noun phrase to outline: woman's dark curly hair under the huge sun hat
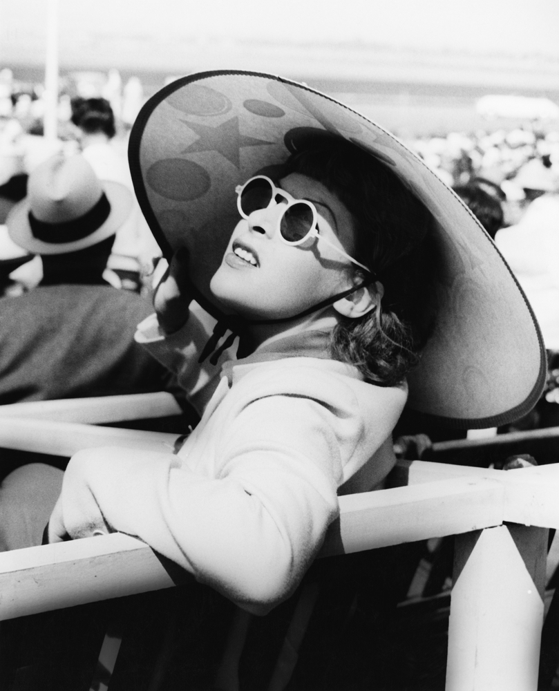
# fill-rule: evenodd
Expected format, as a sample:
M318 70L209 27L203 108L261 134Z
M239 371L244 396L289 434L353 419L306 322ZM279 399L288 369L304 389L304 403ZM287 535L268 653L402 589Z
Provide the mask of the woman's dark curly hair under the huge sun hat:
M298 146L286 170L318 180L343 202L354 218L354 257L384 287L377 309L359 319L341 317L332 357L357 366L373 384L398 384L433 332L433 216L386 164L345 140L314 138Z

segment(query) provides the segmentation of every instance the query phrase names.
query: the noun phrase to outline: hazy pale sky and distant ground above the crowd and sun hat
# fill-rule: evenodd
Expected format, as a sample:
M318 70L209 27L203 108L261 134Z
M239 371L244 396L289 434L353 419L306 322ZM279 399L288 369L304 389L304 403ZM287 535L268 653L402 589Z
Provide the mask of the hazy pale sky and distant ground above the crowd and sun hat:
M42 80L54 1L0 0L0 68ZM124 79L140 76L146 95L166 77L247 69L307 82L371 115L402 120L423 109L426 126L429 113L446 112L455 126L471 120L486 93L559 102L556 0L58 0L58 8L61 74L117 68Z

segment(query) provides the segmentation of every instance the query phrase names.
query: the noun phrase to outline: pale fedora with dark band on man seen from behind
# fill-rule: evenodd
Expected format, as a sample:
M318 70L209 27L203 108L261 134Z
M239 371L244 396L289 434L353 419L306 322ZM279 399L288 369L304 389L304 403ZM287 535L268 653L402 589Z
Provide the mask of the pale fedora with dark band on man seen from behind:
M81 154L51 156L32 171L27 196L8 214L12 240L36 254L66 254L115 234L133 205L120 182L100 181Z

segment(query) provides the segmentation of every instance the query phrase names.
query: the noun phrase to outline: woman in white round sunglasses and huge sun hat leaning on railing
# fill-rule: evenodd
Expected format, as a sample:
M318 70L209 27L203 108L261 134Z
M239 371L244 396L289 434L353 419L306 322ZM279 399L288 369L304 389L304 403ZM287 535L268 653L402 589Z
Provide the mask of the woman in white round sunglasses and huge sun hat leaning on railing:
M202 419L177 453L77 453L48 537L124 531L265 614L301 583L338 495L383 486L404 406L463 428L519 417L542 388L540 333L453 191L307 86L190 75L146 103L130 141L172 260L137 338Z

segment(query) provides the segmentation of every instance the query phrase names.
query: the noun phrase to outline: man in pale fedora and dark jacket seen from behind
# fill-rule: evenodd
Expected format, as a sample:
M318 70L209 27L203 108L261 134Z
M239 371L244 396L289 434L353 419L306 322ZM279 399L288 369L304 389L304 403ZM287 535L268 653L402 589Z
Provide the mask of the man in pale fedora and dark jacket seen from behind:
M151 305L103 278L129 190L100 181L82 155L57 154L30 174L27 192L6 225L13 243L41 256L43 278L0 299L0 404L171 387L133 340Z

